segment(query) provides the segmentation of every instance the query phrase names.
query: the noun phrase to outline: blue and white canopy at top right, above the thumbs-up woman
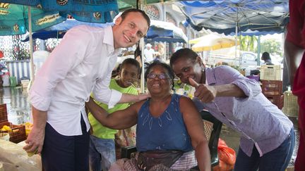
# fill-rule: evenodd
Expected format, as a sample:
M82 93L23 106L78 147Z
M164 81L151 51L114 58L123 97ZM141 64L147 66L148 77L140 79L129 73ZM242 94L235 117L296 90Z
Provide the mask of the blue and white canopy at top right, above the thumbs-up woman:
M175 4L196 30L205 28L225 34L251 30L273 34L284 32L289 20L288 0L178 1Z

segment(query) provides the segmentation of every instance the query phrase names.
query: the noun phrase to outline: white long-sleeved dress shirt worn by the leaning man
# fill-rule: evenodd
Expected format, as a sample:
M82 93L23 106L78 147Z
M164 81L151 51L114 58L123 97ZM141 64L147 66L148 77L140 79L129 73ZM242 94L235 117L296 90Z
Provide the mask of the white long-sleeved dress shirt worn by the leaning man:
M59 134L82 134L80 112L89 130L84 106L91 91L109 106L121 99L119 91L109 89L119 52L114 49L111 26L73 27L37 72L30 89L32 106L47 111L47 122Z

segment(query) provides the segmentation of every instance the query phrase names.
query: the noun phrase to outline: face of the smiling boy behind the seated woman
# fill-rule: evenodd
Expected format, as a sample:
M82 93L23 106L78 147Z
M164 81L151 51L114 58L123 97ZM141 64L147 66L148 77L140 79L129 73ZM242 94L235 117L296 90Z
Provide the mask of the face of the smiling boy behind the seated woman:
M119 72L120 76L120 86L121 87L129 87L132 84L135 84L136 80L138 80L138 68L136 65L125 64L121 68L121 72Z

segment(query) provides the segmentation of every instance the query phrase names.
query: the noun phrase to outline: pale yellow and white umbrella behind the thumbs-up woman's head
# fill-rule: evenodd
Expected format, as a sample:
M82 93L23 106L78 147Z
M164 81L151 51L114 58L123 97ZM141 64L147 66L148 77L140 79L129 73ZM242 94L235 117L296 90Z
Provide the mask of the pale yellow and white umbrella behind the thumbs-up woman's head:
M224 49L235 46L234 37L222 36L216 34L208 34L197 39L193 39L190 42L197 42L191 49L193 51L213 51L217 49ZM237 42L237 45L239 42Z

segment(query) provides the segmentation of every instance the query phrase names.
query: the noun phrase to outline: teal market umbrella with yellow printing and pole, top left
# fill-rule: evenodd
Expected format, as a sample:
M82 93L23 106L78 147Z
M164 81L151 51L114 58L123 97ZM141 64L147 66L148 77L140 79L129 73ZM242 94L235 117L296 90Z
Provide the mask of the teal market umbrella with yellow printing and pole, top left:
M19 23L11 22L7 20L9 12L8 8L16 6L16 4L28 6L28 23L26 18L23 18L25 24L21 25L21 20L18 18ZM31 6L31 7L29 7ZM34 6L34 7L33 7ZM36 8L39 7L39 8ZM22 8L22 7L20 7ZM26 7L23 6L23 9ZM39 15L34 15L36 12L31 9L40 11ZM17 10L14 10L17 11ZM26 11L26 10L25 10ZM26 12L23 11L23 16L26 16ZM46 15L42 16L43 13ZM52 13L49 14L49 13ZM55 14L54 14L55 13ZM66 20L68 15L72 15L77 20L92 22L92 23L107 23L112 22L115 15L119 13L116 0L100 0L100 1L49 1L49 0L3 0L0 3L0 14L3 15L0 23L0 35L11 34L24 34L26 30L30 34L30 62L31 62L31 79L34 79L34 66L32 56L32 30L37 31L44 27L37 27L37 24L45 23L47 27L60 23ZM11 14L11 13L10 13ZM36 17L39 16L39 20ZM42 18L43 17L43 18ZM34 21L32 20L34 19ZM55 21L56 22L55 22Z

